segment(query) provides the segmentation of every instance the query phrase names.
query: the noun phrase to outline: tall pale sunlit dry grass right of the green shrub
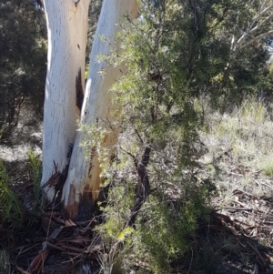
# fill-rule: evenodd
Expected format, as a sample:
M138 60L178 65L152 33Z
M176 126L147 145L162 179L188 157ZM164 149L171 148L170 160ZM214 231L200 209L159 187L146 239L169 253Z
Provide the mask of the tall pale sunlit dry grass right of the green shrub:
M273 187L268 185L273 175L270 117L267 107L251 98L231 114L207 115L208 127L207 132L202 133L202 140L209 152L202 161L213 163L207 166L207 171L215 173L223 202L236 188L261 196L268 195L269 188Z

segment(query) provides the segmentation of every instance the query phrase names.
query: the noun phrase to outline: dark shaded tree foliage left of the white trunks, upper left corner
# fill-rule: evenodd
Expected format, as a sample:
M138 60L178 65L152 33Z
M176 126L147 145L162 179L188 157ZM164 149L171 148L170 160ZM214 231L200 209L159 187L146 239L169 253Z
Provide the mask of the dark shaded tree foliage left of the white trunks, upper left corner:
M46 71L45 17L35 1L0 4L0 142L10 139L22 107L41 117Z

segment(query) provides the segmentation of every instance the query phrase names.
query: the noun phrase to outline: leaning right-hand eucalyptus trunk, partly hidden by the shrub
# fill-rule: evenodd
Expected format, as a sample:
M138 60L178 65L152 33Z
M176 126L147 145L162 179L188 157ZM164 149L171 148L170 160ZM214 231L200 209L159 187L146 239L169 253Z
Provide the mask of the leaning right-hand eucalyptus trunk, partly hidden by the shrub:
M111 118L111 97L108 93L110 86L120 74L121 67L107 67L105 63L96 62L98 54L107 55L111 45L115 43L118 22L124 14L135 17L138 11L136 0L106 0L103 3L99 16L96 36L90 56L90 66L86 83L86 94L81 111L81 123L91 125ZM104 36L104 43L99 36ZM100 72L104 71L103 76ZM116 144L117 128L107 128L103 140L104 147L113 147ZM69 218L88 218L93 202L98 198L101 178L101 169L96 154L96 146L90 147L90 155L86 157L84 148L80 146L85 138L78 132L68 169L68 176L63 188L63 202ZM113 150L112 150L113 152ZM109 159L111 149L109 151Z

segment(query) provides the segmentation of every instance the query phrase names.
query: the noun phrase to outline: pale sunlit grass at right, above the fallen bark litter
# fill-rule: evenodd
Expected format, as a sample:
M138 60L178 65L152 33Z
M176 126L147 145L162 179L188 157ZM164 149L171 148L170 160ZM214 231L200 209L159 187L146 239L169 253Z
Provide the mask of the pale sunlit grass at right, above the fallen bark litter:
M207 131L202 133L210 153L206 163L221 153L231 153L235 165L261 170L273 175L273 138L271 110L256 97L246 98L241 107L223 116L207 114ZM222 168L225 163L220 164Z

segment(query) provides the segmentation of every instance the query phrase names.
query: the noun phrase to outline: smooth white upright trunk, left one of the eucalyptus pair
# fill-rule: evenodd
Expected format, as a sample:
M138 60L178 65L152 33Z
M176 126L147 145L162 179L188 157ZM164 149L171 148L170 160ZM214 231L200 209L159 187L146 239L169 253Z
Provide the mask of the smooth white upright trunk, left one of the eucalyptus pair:
M75 142L76 76L85 72L87 14L90 0L45 0L48 31L47 74L45 83L43 186L67 165L69 144ZM82 76L84 86L84 76ZM53 200L53 188L46 188Z

